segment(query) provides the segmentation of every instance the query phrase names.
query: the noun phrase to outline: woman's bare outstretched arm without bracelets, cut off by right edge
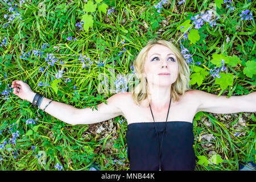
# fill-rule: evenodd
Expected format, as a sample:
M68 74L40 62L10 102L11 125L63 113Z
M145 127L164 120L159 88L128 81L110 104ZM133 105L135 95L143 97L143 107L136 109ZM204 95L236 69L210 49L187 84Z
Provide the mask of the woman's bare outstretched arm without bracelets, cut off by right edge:
M201 90L193 90L197 100L197 112L205 111L216 114L256 112L256 92L243 96L217 96Z

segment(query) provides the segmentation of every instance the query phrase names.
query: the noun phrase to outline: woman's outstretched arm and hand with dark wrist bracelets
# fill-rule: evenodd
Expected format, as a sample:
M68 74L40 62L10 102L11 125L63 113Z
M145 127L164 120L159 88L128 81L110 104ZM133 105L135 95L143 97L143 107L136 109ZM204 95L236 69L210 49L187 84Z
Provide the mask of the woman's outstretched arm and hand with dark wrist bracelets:
M32 103L35 94L30 89L30 86L25 82L20 80L15 80L12 84L14 88L13 93L16 96L19 96L23 100L27 100ZM19 88L19 92L17 89ZM43 100L39 106L40 109L44 110L46 113L52 115L53 117L68 123L69 125L89 125L92 123L97 123L101 121L106 121L108 119L117 117L118 115L122 115L121 110L121 98L122 93L114 94L112 97L108 98L107 105L102 102L97 105L97 109L90 109L90 107L86 107L84 109L78 109L71 105L67 105L61 102L52 101L47 107L46 105L49 103L49 99L43 97Z

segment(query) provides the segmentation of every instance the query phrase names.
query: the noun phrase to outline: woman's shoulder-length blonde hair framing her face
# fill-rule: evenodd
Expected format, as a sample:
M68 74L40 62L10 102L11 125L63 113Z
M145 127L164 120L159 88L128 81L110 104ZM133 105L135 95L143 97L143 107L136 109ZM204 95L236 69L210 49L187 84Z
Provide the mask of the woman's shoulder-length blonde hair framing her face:
M133 100L137 105L140 105L140 102L145 99L148 100L147 80L145 77L142 76L143 75L142 72L143 72L144 61L146 60L147 52L155 44L162 44L163 46L170 48L177 57L179 71L178 71L177 80L171 86L170 94L171 94L172 100L174 102L179 101L180 100L179 95L183 95L187 90L192 90L191 88L189 88L190 70L187 62L181 55L179 48L177 48L176 46L174 46L174 44L172 44L171 42L168 42L167 40L151 39L147 42L146 46L142 48L142 50L139 52L138 56L133 62L135 75L139 79L139 84L135 86L135 88L132 90Z

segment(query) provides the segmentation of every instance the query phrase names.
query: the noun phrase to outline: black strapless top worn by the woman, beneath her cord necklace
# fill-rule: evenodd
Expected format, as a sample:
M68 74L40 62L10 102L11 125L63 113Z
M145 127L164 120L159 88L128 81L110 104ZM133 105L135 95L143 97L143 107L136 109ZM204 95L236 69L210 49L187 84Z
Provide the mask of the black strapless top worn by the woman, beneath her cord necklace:
M130 123L127 126L127 155L130 170L159 170L159 138L162 139L165 122ZM162 144L162 170L189 170L196 166L193 150L193 124L185 121L167 121Z

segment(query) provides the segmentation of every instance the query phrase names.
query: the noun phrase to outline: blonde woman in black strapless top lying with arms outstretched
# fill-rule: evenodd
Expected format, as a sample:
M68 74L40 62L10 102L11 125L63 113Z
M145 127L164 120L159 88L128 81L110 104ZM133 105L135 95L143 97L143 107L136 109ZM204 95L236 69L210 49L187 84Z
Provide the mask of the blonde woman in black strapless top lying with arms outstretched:
M107 105L97 105L97 110L77 109L40 98L19 80L12 87L16 96L70 125L92 124L123 115L128 124L130 170L194 170L192 130L197 112L256 111L256 92L226 98L189 89L189 67L179 49L166 40L148 42L135 59L134 69L140 82L133 92L114 94L106 100Z

